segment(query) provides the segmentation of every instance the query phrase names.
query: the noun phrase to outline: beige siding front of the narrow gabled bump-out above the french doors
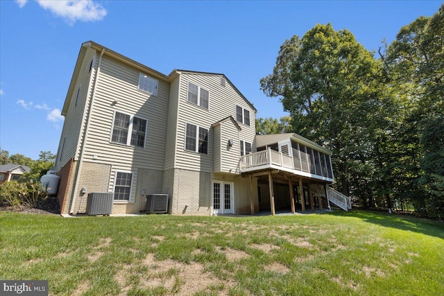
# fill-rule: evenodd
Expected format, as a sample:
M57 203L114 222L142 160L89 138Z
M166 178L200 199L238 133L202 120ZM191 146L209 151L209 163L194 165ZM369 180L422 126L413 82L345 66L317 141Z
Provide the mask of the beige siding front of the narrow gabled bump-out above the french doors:
M237 173L240 157L239 130L231 120L223 121L221 128L221 171ZM228 146L229 139L233 140L232 146Z

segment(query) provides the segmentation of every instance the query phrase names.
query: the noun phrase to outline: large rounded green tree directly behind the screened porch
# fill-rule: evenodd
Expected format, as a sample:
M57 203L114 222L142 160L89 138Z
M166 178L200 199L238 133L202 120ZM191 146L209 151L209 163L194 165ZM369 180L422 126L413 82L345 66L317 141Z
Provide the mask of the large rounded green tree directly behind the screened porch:
M336 186L358 197L372 194L368 157L384 129L382 62L348 30L318 24L281 46L261 88L290 112L294 132L333 151ZM366 200L367 203L368 200Z

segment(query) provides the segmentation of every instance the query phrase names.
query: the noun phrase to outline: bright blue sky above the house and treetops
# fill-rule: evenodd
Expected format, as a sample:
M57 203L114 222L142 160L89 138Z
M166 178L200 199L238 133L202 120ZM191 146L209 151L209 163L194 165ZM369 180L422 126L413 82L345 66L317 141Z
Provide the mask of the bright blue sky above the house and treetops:
M224 73L257 108L286 115L259 79L280 45L315 24L347 28L368 50L441 1L0 1L0 146L57 153L80 44L93 40L168 74ZM108 137L108 136L107 136Z

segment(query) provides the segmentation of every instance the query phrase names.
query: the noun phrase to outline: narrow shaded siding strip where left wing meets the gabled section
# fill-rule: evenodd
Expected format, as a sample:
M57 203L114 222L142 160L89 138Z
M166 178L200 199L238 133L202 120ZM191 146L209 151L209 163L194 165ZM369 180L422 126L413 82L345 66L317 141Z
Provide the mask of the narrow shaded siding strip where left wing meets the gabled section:
M167 119L167 139L165 143L165 166L167 171L174 168L174 160L176 155L176 132L178 124L178 96L179 96L180 77L173 80L170 84L169 91L169 109Z

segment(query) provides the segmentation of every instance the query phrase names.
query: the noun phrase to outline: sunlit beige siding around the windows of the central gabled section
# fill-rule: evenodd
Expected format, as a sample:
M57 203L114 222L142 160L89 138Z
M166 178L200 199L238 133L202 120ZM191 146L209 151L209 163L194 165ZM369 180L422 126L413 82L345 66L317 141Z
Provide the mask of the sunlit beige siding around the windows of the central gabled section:
M188 82L203 87L210 92L209 109L205 109L187 101ZM236 105L250 111L250 126L241 125L241 139L253 143L255 138L255 112L239 95L234 87L225 83L221 85L221 75L207 73L180 73L180 93L178 98L178 131L176 141L176 168L184 168L191 171L213 171L213 131L210 128L213 123L227 116L236 116ZM192 153L185 150L185 123L199 125L209 129L208 154ZM233 135L235 137L236 135Z

